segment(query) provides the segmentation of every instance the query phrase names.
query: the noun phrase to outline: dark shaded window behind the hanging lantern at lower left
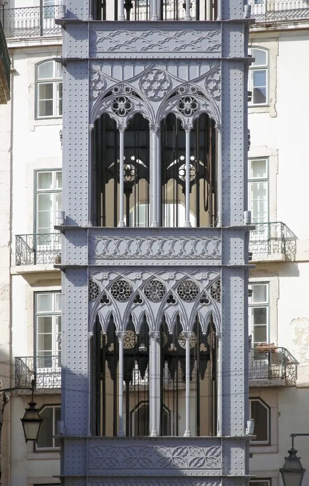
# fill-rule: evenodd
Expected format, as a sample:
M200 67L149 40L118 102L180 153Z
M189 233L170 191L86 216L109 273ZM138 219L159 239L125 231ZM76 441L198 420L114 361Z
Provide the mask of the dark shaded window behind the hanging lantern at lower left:
M60 440L54 438L56 434L57 422L61 420L60 405L48 405L40 411L40 416L43 419L40 434L38 434L36 450L58 449L60 448Z

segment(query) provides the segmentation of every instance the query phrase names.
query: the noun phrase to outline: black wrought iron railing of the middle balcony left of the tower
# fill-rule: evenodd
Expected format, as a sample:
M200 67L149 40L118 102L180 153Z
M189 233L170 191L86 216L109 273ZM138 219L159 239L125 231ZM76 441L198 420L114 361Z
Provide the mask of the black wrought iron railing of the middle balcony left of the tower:
M16 265L61 263L61 234L16 235Z

